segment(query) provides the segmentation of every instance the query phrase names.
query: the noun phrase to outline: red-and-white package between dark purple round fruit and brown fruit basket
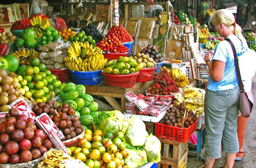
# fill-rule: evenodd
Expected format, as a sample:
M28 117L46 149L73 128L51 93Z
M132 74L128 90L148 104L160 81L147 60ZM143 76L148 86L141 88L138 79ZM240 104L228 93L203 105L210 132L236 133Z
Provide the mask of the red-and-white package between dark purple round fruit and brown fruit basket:
M53 123L53 120L48 116L48 114L43 113L35 118L37 125L41 127L44 132L49 135L51 132L55 132L55 134L60 138L64 138L62 131Z

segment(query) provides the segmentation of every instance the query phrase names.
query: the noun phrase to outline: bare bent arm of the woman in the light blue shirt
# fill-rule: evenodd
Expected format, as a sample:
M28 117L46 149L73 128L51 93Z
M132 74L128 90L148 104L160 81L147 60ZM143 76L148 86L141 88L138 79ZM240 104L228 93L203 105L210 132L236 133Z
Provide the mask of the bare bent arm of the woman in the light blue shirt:
M221 81L224 76L226 63L218 60L212 61L212 54L206 54L204 60L209 67L209 73L212 79L216 82Z

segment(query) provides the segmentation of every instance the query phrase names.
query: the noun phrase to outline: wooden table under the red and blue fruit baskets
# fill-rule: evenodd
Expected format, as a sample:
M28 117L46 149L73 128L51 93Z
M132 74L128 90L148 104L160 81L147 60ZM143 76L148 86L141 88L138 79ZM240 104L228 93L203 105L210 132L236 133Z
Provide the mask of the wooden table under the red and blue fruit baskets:
M144 94L149 84L153 83L153 81L147 82L137 82L134 87L111 87L106 86L104 82L99 83L97 85L85 85L86 94L91 94L93 96L103 96L106 101L113 107L113 109L118 109L120 112L125 112L125 96L124 94L127 92L134 92L134 94ZM116 101L115 98L121 98L121 105Z

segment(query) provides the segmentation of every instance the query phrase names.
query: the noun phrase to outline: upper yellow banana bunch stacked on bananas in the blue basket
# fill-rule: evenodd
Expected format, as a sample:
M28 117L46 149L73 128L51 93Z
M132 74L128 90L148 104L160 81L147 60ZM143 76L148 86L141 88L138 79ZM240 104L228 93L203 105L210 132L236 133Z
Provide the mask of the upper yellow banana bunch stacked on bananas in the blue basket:
M78 41L73 41L68 48L68 56L71 58L77 58L80 56L82 59L89 58L93 54L102 54L102 50L98 47L93 48L93 45L89 44L88 41L82 43Z

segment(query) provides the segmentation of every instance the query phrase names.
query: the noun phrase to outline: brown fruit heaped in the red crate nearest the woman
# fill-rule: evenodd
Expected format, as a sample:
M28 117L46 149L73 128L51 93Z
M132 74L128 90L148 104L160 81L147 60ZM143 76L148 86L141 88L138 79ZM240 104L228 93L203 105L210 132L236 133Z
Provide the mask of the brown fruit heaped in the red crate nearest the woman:
M196 114L188 110L184 103L167 109L165 116L159 122L174 127L188 128L196 122Z

